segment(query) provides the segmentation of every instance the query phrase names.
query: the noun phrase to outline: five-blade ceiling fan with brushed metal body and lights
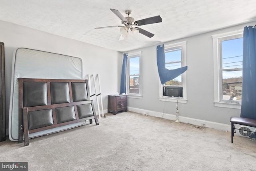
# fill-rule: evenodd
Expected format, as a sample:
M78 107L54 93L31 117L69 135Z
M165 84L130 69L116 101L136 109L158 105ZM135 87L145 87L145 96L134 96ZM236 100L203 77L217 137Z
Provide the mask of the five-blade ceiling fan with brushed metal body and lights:
M145 19L142 19L142 20L135 21L134 18L130 17L130 14L132 12L130 10L125 11L125 13L128 15L128 17L122 16L122 14L118 10L111 9L111 8L110 8L110 10L112 12L114 12L114 14L116 14L116 16L118 16L118 18L120 18L122 20L122 23L121 23L122 26L105 26L105 27L97 27L95 29L121 27L120 28L120 32L121 32L120 38L121 37L128 38L129 30L134 35L140 33L140 34L143 34L143 35L145 35L149 38L152 38L154 36L154 34L148 32L146 30L143 30L142 28L139 28L138 26L162 22L162 18L160 16L154 16L154 17L145 18Z

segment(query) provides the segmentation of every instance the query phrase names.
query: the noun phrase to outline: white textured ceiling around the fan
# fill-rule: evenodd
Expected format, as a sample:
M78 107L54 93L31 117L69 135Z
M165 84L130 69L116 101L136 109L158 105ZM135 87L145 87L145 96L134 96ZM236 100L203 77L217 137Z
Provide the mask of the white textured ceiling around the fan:
M160 15L161 23L140 26L155 34L118 41L120 25L110 10L141 20ZM0 0L0 20L126 52L237 24L256 21L256 0Z

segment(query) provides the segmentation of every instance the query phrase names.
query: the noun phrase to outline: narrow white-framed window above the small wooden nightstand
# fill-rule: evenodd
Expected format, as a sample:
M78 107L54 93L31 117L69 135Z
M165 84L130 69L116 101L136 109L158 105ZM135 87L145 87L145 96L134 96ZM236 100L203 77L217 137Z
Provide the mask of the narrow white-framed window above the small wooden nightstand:
M134 98L142 96L142 72L141 72L141 52L128 54L127 60L127 95L132 95ZM131 96L129 96L131 97Z

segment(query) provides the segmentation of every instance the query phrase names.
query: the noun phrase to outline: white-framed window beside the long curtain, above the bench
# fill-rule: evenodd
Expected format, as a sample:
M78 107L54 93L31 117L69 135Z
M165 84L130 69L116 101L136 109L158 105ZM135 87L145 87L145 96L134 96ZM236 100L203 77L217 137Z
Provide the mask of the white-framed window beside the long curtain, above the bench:
M218 107L241 107L243 31L213 35L214 102Z

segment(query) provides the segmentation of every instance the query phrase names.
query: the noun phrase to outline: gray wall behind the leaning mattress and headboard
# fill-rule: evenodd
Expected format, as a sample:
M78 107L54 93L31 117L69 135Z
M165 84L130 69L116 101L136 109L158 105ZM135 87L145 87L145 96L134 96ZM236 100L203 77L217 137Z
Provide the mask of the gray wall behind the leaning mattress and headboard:
M119 64L122 63L122 53L120 52L3 21L0 21L0 42L4 42L5 46L7 127L12 55L16 48L30 48L81 58L83 79L87 79L87 74L100 75L104 109L107 109L108 94L114 94L119 89ZM94 89L92 89L92 92L94 92ZM97 110L96 105L95 108Z

